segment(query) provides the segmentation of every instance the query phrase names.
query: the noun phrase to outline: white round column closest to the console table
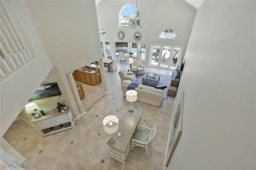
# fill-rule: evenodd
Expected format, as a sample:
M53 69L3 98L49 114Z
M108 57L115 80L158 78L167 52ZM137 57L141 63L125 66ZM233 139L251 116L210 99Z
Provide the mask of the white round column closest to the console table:
M74 98L75 98L75 101L76 101L76 105L78 107L78 110L79 110L79 113L81 115L84 115L86 112L84 111L84 107L82 105L82 102L80 100L80 97L79 97L79 94L78 94L78 91L76 89L76 83L75 83L75 80L73 78L73 73L74 71L70 71L66 74L66 76L68 77L68 82L69 82L69 85L71 87L71 90L72 90L72 93L74 95Z

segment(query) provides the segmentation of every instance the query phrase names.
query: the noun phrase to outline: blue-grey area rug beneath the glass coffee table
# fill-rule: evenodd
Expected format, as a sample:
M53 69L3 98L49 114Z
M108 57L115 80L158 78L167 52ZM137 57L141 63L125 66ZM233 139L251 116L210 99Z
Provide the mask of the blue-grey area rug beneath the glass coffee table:
M142 78L146 76L146 73L137 76L136 82L142 84ZM149 73L152 73L152 72L149 72ZM158 73L154 72L153 74L158 74ZM170 87L170 84L172 81L172 76L167 75L167 74L159 74L159 75L160 75L160 81L158 82L157 87L167 86L167 89L165 90L165 94L164 94L164 100L167 100L167 98L168 98L167 92L168 92L168 88ZM145 84L145 86L147 86L147 85ZM152 87L152 86L150 86L150 87Z

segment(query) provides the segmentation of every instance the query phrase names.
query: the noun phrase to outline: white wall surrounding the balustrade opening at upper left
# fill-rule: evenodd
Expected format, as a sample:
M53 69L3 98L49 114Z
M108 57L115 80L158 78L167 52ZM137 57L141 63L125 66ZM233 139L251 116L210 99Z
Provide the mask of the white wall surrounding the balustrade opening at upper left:
M4 135L52 69L47 52L44 49L42 41L40 41L40 37L24 2L2 1L2 3L14 20L14 23L16 23L22 37L25 37L25 34L28 36L37 57L28 66L8 80L8 82L1 84L1 136ZM22 31L22 27L24 27L25 31ZM40 66L43 66L43 69Z

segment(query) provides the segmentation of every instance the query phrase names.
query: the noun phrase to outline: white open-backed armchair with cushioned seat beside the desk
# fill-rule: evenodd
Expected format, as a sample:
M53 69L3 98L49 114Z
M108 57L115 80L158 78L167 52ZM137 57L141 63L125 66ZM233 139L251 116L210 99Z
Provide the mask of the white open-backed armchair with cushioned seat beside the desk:
M153 126L153 128L146 127L144 125L138 125L139 129L136 130L136 133L132 137L132 148L137 147L143 147L147 151L148 155L148 144L152 140L152 138L156 135L156 125ZM147 133L148 131L148 133Z

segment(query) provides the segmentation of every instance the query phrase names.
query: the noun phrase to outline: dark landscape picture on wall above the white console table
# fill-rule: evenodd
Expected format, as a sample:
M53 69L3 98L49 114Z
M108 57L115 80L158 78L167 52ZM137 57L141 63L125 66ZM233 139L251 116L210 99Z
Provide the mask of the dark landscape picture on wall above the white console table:
M49 84L41 84L28 102L59 95L61 95L61 92L56 82Z

